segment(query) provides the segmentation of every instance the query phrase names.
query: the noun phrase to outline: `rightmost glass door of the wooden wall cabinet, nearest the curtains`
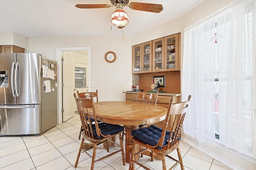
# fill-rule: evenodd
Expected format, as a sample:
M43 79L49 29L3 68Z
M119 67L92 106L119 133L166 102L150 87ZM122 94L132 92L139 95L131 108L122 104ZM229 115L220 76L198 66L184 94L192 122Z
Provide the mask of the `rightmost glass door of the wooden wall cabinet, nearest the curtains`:
M178 34L165 37L164 71L179 70L178 68Z

